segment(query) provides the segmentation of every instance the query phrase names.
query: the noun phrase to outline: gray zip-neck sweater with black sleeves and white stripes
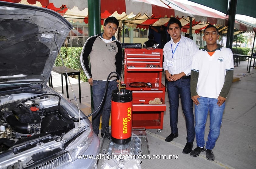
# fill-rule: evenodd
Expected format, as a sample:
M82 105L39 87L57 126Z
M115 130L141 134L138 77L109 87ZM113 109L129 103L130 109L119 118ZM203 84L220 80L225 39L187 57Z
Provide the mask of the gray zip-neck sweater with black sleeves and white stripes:
M113 36L112 41L106 43L102 40L102 34L89 37L81 52L81 66L88 79L107 80L111 72L121 75L123 61L121 42ZM109 78L109 80L113 79L116 79L116 74L112 74Z

